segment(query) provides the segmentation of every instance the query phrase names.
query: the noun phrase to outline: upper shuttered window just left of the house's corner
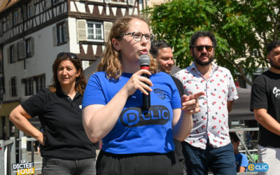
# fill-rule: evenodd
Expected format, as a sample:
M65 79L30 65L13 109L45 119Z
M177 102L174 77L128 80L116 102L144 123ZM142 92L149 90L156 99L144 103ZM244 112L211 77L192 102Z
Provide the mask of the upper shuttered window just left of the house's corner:
M67 22L60 22L56 27L53 27L52 32L54 45L62 45L68 41Z

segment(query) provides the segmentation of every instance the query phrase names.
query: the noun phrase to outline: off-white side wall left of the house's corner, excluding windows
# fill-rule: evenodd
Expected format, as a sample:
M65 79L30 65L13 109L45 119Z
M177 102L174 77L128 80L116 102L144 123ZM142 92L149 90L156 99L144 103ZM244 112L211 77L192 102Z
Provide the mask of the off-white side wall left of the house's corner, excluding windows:
M21 83L22 78L29 78L45 73L45 85L50 85L52 79L52 62L55 60L57 53L69 52L69 42L59 46L53 45L52 27L55 27L55 24L25 36L25 38L29 38L30 36L34 37L34 55L26 59L26 69L24 69L23 60L10 64L7 58L7 49L10 45L22 41L23 38L3 46L5 101L17 100L25 95L25 86ZM10 97L10 78L14 76L18 80L18 97Z

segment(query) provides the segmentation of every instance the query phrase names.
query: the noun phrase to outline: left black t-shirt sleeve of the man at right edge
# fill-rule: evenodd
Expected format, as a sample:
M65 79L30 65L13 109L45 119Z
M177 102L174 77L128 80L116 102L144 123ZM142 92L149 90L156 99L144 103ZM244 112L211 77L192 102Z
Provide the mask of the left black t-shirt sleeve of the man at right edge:
M267 109L267 94L264 78L260 75L255 79L251 89L251 106L253 109Z

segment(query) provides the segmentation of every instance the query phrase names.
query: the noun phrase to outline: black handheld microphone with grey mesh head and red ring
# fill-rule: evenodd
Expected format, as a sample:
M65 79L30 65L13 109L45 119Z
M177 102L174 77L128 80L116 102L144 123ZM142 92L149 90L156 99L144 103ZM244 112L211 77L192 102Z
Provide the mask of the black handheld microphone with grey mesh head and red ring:
M150 57L148 57L148 55L141 55L139 57L139 64L141 69L149 70L150 63L151 63L151 59ZM143 73L142 76L146 78L150 78L150 76L147 73ZM148 85L147 83L145 84ZM149 109L151 107L150 91L146 91L146 92L148 92L148 95L143 94L143 108Z

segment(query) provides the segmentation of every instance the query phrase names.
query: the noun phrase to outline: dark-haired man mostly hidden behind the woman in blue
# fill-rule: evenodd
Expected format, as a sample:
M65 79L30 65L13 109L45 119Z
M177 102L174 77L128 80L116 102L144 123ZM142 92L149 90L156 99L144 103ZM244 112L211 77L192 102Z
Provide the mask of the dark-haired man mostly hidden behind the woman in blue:
M169 43L166 43L165 41L153 41L151 44L150 52L151 55L153 55L153 57L157 59L158 65L160 67L160 71L170 74L172 71L172 67L174 65L171 45L169 45ZM178 78L175 78L174 76L172 76L172 79L174 80L174 83L177 89L179 90L179 94L182 97L184 94L183 84ZM186 175L187 170L185 165L185 158L182 153L181 141L174 139L174 144L175 144L174 153L179 159L181 166L183 167L183 174Z

